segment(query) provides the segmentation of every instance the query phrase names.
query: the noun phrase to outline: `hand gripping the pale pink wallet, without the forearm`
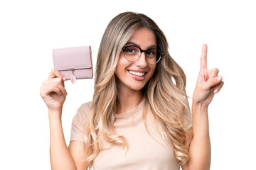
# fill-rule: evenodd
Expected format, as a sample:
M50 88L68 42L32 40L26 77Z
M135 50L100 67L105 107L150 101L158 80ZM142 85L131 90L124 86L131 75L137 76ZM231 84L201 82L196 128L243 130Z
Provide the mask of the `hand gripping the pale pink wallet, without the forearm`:
M52 69L50 76L40 88L40 95L51 112L61 113L67 91L65 90L65 76L57 69Z

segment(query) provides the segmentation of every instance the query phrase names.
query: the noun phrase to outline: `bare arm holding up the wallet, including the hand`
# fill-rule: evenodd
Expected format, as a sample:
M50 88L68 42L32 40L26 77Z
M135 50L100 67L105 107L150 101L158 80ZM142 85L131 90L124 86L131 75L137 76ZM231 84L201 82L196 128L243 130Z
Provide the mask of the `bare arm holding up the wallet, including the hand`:
M46 81L43 81L40 89L40 95L48 107L50 164L52 169L82 169L83 166L78 164L85 157L80 157L83 153L83 145L80 144L82 142L74 142L74 145L68 149L61 124L63 103L67 96L64 86L65 80L63 74L52 69L50 76Z

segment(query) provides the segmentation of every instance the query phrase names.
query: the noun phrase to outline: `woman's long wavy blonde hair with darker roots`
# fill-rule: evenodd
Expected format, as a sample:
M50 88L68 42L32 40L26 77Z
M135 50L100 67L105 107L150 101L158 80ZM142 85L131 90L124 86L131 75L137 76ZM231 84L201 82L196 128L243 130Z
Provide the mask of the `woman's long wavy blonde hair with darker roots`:
M101 151L100 138L113 145L128 149L123 136L115 135L114 120L117 107L117 77L114 74L122 47L137 28L149 28L156 36L157 47L164 56L156 64L153 76L144 86L145 107L151 110L161 125L166 140L174 146L174 155L179 163L188 161L185 113L190 112L186 95L186 76L168 52L164 33L151 18L141 13L125 12L110 21L100 43L91 114L85 125L85 157L87 167ZM145 118L144 121L146 122Z

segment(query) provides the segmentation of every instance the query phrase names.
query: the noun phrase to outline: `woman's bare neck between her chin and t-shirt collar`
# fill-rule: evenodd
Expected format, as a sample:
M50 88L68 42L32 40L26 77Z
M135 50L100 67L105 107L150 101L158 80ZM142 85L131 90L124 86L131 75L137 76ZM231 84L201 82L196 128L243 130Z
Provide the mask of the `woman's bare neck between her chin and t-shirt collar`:
M138 106L142 98L142 90L134 91L132 89L119 88L117 114L125 113Z

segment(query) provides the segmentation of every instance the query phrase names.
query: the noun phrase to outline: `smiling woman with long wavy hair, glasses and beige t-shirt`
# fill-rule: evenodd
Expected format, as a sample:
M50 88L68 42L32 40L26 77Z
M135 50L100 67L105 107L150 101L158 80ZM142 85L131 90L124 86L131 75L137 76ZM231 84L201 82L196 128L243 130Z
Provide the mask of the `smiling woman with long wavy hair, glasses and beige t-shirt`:
M143 14L113 18L97 56L93 101L78 108L69 147L61 125L66 79L53 69L41 86L52 169L209 169L208 105L223 81L207 69L206 54L203 45L191 122L186 76L164 33Z

